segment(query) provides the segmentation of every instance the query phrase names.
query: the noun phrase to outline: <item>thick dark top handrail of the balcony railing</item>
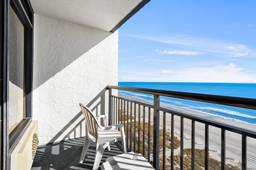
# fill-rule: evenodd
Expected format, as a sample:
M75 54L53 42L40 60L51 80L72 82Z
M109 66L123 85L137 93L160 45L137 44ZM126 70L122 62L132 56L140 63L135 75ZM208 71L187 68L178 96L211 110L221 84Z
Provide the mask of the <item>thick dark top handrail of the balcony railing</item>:
M146 88L132 88L108 85L106 89L109 88L256 110L256 99L252 98L240 98L231 96L218 96L212 94L174 92L167 90L154 90Z

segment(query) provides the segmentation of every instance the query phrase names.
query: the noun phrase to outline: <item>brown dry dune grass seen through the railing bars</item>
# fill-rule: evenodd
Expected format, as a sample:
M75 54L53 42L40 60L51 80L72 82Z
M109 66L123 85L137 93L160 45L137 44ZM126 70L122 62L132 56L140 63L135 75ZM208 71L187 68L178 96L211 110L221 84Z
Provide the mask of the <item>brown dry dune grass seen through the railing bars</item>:
M123 120L122 123L124 121L126 121L127 118L127 114L126 111L124 110L120 110L120 113L123 114ZM125 115L125 120L124 120L124 115ZM132 120L134 119L134 117L132 116ZM119 119L121 121L121 118ZM139 128L140 125L140 128ZM134 132L134 121L132 121L132 125L130 123L130 114L128 115L128 133L126 133L127 131L127 121L125 124L125 134L126 137L128 137L128 145L130 146L130 143L132 143L132 145L130 146L132 149L135 150L135 152L140 152L141 154L143 154L143 144L144 144L144 156L147 157L148 156L148 143L150 143L150 153L153 153L153 137L154 137L154 127L153 125L149 125L148 122L143 123L142 121L139 122L136 121L136 131ZM131 129L131 134L130 134L130 129ZM138 130L140 129L140 131ZM150 131L149 131L150 129ZM144 132L145 131L145 132ZM143 133L144 132L144 133ZM136 136L136 139L134 139L134 133ZM138 136L140 134L140 138L138 139ZM143 135L145 135L144 139L145 141L143 141ZM130 138L131 136L131 138ZM150 136L150 140L148 139L148 136ZM162 154L163 152L163 141L164 141L164 129L159 129L159 152L160 154ZM170 131L166 130L166 148L171 148L171 133ZM130 139L132 141L130 141ZM140 140L140 151L138 150L138 140ZM135 141L135 148L134 148L134 141ZM177 137L174 137L174 149L178 149L180 147L180 140L178 140ZM184 170L191 170L191 149L184 149L183 150L183 168ZM166 164L165 164L165 169L166 170L170 170L170 162L171 162L171 158L167 158L165 159ZM152 163L152 162L151 162ZM163 169L163 158L159 158L159 169L162 170ZM175 155L174 156L174 170L178 170L180 169L180 154ZM204 150L202 149L195 149L195 169L196 170L204 170ZM211 157L209 157L209 170L219 170L221 169L221 162L218 160L215 160ZM239 166L233 166L230 164L226 164L226 170L241 170L241 168Z

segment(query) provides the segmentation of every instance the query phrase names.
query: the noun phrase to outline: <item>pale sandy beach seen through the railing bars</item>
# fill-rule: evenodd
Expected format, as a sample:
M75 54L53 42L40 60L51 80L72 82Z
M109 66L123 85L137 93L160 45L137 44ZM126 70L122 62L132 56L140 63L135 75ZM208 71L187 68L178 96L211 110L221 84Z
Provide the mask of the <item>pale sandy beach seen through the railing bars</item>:
M119 94L124 98L130 98L132 100L138 101L137 98L132 98L131 96L125 96L123 94ZM151 101L140 100L142 103L151 104ZM235 121L230 121L228 119L224 119L222 117L217 117L214 115L208 115L203 113L198 113L196 111L190 111L187 109L183 109L180 107L173 107L168 105L160 104L161 107L178 110L183 113L187 113L190 115L202 117L204 119L208 119L210 121L220 122L227 125L232 125L235 127L240 127L243 129L248 129L250 131L256 131L256 126L240 123ZM130 108L129 108L130 109ZM151 109L151 119L153 121L153 109ZM130 112L130 111L129 111ZM132 111L132 114L134 110ZM137 107L138 113L138 107ZM141 110L142 113L142 110ZM160 126L161 122L163 122L163 113L160 111ZM137 117L138 115L136 115ZM148 120L148 109L146 109L146 120ZM138 119L137 119L138 121ZM142 120L141 120L142 121ZM166 113L166 129L171 129L171 114ZM196 149L204 149L205 147L205 125L200 122L195 123L195 148ZM174 136L178 137L180 140L180 117L174 116ZM191 148L191 120L184 118L184 149ZM174 150L174 155L180 153L180 148ZM171 150L166 150L166 155L170 155ZM216 160L221 160L221 129L213 126L209 126L209 154L212 158ZM230 131L226 131L226 164L237 165L241 167L242 162L242 135L233 133ZM249 170L256 170L256 139L247 137L247 168Z

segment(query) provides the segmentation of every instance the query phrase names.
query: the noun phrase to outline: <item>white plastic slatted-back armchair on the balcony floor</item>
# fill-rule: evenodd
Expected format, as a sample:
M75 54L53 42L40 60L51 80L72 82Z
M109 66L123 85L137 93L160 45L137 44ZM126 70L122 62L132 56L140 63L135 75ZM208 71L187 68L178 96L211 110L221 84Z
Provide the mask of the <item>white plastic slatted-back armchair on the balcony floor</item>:
M84 141L84 147L82 151L82 155L80 158L80 163L84 161L86 152L88 150L88 147L90 143L96 146L96 154L95 154L95 161L93 164L93 170L97 170L100 165L100 160L102 158L104 149L108 147L110 149L110 145L117 142L122 141L122 149L123 153L126 153L126 143L125 143L125 135L124 135L124 127L122 124L112 125L112 126L106 126L106 117L104 115L101 115L98 118L104 118L104 126L101 126L98 120L96 119L96 116L88 109L88 107L79 104L82 112L84 113L84 117L86 120L87 125L87 131L86 131L86 137ZM116 130L116 129L119 129Z

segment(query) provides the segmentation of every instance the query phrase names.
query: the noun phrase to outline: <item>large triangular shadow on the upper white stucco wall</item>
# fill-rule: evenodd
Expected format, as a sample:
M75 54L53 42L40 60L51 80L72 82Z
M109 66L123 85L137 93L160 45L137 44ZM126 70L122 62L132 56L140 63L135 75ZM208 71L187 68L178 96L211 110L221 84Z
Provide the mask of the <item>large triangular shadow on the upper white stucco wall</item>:
M34 89L112 35L107 31L37 15L34 15L34 28ZM12 63L10 70L16 66ZM23 88L17 75L10 75L10 81Z

